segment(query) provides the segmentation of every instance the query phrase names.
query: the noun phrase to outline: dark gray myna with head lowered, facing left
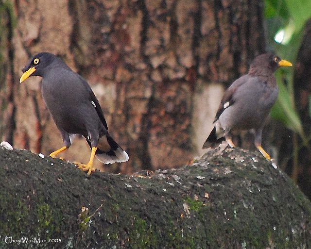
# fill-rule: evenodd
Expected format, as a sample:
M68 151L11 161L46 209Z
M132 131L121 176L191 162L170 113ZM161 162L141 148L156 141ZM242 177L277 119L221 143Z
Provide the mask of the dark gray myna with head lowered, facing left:
M69 149L72 135L80 134L92 151L87 164L76 164L88 174L95 170L95 155L104 164L128 160L127 153L109 135L102 108L91 87L60 58L51 53L38 53L23 72L20 83L30 76L43 78L43 99L64 141L65 146L52 152L51 157Z

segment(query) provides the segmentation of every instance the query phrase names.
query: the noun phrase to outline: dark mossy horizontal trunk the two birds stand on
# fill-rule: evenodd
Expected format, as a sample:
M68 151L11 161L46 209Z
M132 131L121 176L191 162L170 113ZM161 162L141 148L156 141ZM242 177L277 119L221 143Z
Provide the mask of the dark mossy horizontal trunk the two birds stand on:
M2 249L311 247L311 202L258 152L215 149L134 176L87 176L26 150L0 148L0 162Z

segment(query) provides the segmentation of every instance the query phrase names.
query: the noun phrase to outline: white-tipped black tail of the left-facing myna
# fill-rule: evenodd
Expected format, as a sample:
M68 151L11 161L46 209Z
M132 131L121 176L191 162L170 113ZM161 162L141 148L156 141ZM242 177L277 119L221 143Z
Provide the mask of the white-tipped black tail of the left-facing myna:
M88 139L86 139L86 141L89 147L91 147L91 142ZM125 150L123 150L109 135L104 135L99 138L95 155L97 159L104 164L121 163L128 160L128 154Z

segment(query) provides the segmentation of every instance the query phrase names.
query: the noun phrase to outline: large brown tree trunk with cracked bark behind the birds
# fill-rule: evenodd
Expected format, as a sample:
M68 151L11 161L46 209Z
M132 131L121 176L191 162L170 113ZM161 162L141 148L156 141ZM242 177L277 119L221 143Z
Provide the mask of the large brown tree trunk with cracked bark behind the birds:
M111 170L184 165L211 130L223 86L264 51L258 0L1 0L2 140L46 154L62 145L39 79L19 85L39 51L59 54L94 89L130 155ZM8 46L7 46L8 45ZM65 157L85 162L75 141ZM97 165L101 166L101 165Z

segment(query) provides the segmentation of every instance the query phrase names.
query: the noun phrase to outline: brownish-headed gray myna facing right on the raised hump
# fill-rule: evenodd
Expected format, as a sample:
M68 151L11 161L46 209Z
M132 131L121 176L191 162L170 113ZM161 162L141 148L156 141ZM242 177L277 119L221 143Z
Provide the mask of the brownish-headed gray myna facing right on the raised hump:
M277 98L278 87L273 73L279 66L292 66L292 63L273 54L261 54L251 63L248 74L229 86L215 116L215 126L203 149L223 140L230 147L235 147L231 132L252 130L255 132L256 148L266 159L271 160L261 147L261 135L264 122Z

